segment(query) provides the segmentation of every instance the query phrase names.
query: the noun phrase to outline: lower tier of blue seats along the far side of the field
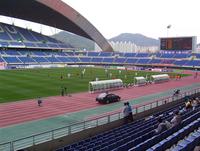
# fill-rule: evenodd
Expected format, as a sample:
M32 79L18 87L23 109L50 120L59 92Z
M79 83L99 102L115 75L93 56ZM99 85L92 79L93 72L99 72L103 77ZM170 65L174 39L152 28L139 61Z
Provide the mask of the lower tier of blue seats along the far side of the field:
M168 64L176 66L200 66L200 60L161 60L143 58L112 58L112 57L78 57L78 56L40 56L43 52L38 52L37 56L2 56L1 62L8 64L32 64L32 63L117 63L117 64Z

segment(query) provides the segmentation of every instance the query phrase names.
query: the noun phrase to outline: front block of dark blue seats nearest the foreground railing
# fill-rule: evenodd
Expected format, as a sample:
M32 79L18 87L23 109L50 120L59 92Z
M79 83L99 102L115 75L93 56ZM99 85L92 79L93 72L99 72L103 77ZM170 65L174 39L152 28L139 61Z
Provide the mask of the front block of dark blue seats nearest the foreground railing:
M163 116L163 119L170 120L172 118L171 112L177 108L159 112L153 116ZM200 115L200 108L197 110L190 110L182 115L183 124L187 126ZM198 125L198 124L196 124ZM196 126L195 125L195 126ZM128 125L123 125L119 128L98 134L88 139L73 143L71 145L64 146L56 151L121 151L121 150L146 150L155 145L162 139L165 139L175 133L182 127L175 127L164 131L159 135L155 135L154 129L157 127L156 118L150 118L148 120L140 119ZM188 130L188 129L185 129Z

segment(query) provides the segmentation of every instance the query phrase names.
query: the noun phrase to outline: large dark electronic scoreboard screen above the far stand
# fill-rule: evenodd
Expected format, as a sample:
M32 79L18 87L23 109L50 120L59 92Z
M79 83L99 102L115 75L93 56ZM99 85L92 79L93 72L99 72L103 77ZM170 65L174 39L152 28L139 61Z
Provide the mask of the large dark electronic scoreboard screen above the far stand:
M160 38L160 50L192 50L192 37Z

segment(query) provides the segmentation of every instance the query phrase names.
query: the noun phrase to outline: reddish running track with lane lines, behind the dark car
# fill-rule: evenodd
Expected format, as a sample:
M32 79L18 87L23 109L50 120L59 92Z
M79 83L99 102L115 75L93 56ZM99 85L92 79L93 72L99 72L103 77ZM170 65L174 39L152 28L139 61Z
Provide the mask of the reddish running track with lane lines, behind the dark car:
M191 73L191 72L190 72ZM152 84L145 87L133 87L116 90L114 93L122 100L134 99L144 95L167 91L200 82L200 78L185 77L180 81L172 80L162 84ZM45 98L43 106L37 106L37 100L25 100L0 105L0 127L6 127L23 122L46 119L65 113L91 109L101 104L95 101L98 94L88 92L72 94L71 97L53 96Z

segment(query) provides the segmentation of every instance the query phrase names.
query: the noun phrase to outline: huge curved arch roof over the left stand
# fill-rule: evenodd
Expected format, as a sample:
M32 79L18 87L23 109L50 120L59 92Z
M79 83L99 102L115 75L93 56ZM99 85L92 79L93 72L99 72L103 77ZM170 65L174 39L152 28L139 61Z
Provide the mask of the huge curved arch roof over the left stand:
M103 51L113 51L87 19L61 0L0 0L0 15L69 31L95 41Z

